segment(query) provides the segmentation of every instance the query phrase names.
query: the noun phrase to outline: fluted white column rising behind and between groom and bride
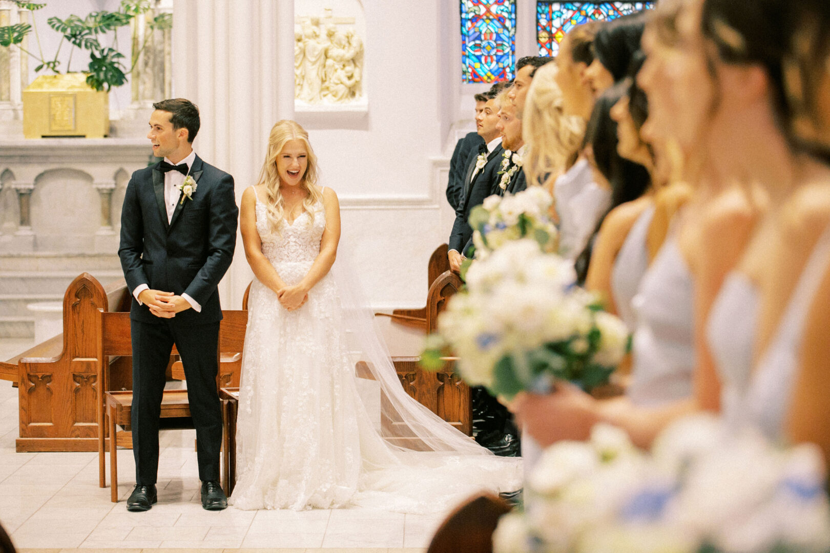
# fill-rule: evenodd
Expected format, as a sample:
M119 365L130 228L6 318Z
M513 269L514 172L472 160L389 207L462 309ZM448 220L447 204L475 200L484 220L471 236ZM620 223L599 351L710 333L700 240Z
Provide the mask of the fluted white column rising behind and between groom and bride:
M193 149L233 175L237 204L259 175L271 127L294 118L294 0L243 3L173 3L173 96L198 105ZM222 308L242 307L251 278L237 238L219 286Z

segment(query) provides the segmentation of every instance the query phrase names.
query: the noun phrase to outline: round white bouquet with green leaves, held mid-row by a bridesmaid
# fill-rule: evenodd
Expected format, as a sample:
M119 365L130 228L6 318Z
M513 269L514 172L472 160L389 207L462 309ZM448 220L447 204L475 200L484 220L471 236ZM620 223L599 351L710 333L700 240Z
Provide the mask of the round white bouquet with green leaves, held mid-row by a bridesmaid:
M606 384L627 352L627 328L575 279L573 264L536 240L502 245L470 266L422 365L441 366L441 353L452 351L462 380L507 399L547 392L556 379L583 390Z

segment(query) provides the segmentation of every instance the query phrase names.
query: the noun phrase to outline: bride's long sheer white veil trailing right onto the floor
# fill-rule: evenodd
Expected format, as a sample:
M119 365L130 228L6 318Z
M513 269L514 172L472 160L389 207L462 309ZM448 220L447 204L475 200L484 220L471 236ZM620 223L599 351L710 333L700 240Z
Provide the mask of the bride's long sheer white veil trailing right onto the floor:
M391 506L380 501L383 507L428 512L449 507L482 488L492 492L521 488L520 458L497 457L403 389L357 272L350 266L351 255L342 244L339 250L332 273L344 333L351 359L364 361L356 371L356 383L379 437L375 441L361 436L364 493L357 494L356 502L362 503L363 497L377 506L381 498L365 490L383 488L394 496ZM419 470L426 472L413 473ZM401 496L412 501L402 503Z

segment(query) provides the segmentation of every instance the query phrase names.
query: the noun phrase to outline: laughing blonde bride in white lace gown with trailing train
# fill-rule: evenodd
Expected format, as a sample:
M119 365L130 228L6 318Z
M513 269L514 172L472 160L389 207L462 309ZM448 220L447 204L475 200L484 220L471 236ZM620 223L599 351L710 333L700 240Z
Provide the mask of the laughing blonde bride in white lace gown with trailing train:
M354 305L349 279L331 271L339 204L316 181L308 133L278 122L259 183L242 195L256 278L230 502L437 512L481 489L520 488L520 459L492 455L403 390L371 313ZM371 374L356 376L358 359Z

